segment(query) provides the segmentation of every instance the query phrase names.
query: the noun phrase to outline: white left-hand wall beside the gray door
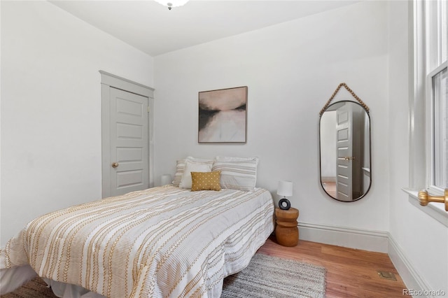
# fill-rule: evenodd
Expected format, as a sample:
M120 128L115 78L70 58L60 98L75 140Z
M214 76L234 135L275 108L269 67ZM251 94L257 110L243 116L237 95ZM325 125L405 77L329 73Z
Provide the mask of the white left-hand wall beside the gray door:
M47 1L1 1L1 245L101 198L99 70L153 85L153 58Z

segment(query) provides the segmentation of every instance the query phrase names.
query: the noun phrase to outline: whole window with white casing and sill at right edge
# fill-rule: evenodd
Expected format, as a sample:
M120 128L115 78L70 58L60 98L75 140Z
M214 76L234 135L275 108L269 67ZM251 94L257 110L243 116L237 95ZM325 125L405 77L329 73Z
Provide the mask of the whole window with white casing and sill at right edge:
M448 188L447 0L414 0L413 96L409 97L409 202L448 227L444 204L420 206L418 192Z

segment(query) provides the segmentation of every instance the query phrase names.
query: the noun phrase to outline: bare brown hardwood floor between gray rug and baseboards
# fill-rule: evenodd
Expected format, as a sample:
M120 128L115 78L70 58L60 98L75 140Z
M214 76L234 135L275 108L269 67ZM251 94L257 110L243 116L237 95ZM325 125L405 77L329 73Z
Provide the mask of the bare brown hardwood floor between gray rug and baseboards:
M406 288L386 253L374 253L299 240L295 247L280 246L269 238L258 253L284 257L327 269L326 297L403 297ZM380 278L377 271L392 272L397 281Z

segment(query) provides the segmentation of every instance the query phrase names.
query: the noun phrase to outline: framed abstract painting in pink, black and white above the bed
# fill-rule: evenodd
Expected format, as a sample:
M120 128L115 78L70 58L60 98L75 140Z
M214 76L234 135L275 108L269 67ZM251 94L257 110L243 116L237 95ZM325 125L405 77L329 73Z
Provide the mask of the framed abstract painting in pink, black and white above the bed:
M199 143L246 143L247 86L199 92Z

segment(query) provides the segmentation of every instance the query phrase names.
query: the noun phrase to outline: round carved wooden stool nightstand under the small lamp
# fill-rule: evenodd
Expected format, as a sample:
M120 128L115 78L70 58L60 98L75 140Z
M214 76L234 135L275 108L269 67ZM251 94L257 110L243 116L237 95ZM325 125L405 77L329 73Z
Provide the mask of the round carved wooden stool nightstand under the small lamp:
M299 229L297 218L299 211L296 208L282 210L275 208L276 227L275 237L281 246L296 246L299 242Z

